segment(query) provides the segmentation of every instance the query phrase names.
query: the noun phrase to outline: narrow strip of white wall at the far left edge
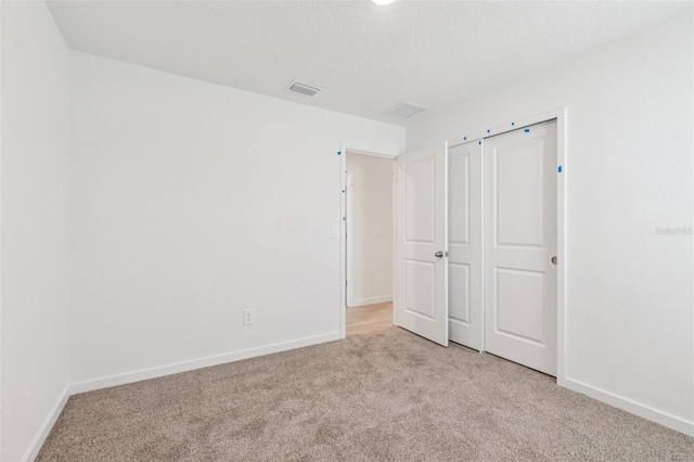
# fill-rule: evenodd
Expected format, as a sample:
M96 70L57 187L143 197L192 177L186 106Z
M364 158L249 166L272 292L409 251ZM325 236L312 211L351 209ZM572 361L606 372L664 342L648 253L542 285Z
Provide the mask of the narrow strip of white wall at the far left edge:
M30 457L68 386L68 50L43 2L2 2L3 461Z

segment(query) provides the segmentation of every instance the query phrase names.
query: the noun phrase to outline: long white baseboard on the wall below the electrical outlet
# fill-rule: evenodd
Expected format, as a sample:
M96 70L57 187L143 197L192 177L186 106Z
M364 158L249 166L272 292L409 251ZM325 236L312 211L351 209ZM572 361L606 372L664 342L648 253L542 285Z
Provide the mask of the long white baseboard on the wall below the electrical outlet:
M342 337L339 335L339 332L331 332L329 334L314 335L312 337L298 338L295 341L265 345L255 348L247 348L239 351L193 359L190 361L181 361L174 364L141 369L139 371L126 372L123 374L108 375L101 378L74 383L69 388L69 393L70 395L76 395L79 393L92 392L95 389L145 381L147 378L156 378L164 375L178 374L180 372L208 368L210 365L223 364L226 362L239 361L241 359L254 358L256 356L264 356L272 352L286 351L294 348L322 344L325 342L338 341L340 338Z

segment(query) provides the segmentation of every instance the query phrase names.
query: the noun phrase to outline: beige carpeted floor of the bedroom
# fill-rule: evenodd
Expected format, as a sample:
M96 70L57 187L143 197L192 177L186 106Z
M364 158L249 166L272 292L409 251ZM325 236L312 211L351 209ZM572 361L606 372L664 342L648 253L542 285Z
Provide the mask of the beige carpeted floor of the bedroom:
M684 461L694 438L398 328L73 396L39 461Z

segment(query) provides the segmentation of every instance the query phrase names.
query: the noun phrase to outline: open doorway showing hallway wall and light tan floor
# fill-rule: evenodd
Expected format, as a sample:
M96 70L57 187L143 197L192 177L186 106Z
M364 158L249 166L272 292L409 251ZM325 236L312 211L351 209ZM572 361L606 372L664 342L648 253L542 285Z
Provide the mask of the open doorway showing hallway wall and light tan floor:
M394 166L391 157L345 153L346 335L393 325Z

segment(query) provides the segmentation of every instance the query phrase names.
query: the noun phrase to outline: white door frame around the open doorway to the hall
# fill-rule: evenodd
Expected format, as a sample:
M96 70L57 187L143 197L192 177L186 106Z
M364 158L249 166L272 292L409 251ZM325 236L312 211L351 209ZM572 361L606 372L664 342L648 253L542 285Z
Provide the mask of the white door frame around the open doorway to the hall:
M347 155L348 154L361 154L369 155L373 157L382 157L393 161L395 164L395 159L400 154L386 154L378 153L373 151L362 151L351 149L345 143L339 143L339 151L337 151L337 155L339 158L339 337L347 337L347 222L345 218L347 217ZM396 256L396 179L397 171L394 168L393 175L393 287L395 291L395 256ZM395 310L393 310L393 322L395 324Z

